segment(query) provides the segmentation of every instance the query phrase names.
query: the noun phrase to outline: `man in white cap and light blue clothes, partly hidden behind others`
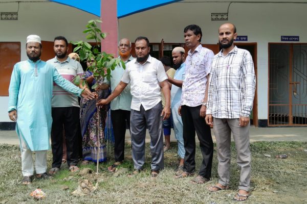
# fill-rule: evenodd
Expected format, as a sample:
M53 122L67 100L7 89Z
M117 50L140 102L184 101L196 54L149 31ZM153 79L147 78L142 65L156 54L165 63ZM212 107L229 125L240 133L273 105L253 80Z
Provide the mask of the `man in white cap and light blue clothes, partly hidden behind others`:
M176 175L180 175L183 169L184 162L184 142L183 142L183 123L181 116L178 113L178 108L180 107L180 99L182 94L182 83L185 78L185 50L183 47L175 47L172 50L172 59L174 63L174 68L176 69L174 78L168 78L168 82L171 83L170 90L170 102L171 102L171 113L173 117L174 133L178 142L178 155L180 157L180 162Z

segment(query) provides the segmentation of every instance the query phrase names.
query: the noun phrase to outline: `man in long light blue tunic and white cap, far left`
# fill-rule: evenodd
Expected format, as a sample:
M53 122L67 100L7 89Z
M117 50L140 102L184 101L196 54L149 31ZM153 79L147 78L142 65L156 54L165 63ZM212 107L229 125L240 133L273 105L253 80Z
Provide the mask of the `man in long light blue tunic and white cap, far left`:
M28 60L15 64L9 87L9 117L16 122L20 140L22 184L32 183L35 151L37 179L47 179L47 150L50 149L51 98L53 83L70 93L89 97L86 91L63 79L56 68L40 60L41 40L37 35L27 37ZM90 96L92 99L93 95ZM18 117L17 117L18 113Z

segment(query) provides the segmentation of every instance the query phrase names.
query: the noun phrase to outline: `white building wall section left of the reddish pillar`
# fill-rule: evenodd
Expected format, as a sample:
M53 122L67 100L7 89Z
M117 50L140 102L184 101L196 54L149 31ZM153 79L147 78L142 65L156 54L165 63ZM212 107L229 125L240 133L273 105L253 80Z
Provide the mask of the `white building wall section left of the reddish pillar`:
M17 3L0 3L0 12L16 12ZM84 11L51 3L20 3L18 20L0 20L0 42L21 42L21 60L27 59L26 37L37 34L41 40L53 41L56 36L70 40L84 40L87 21L99 19ZM43 52L43 51L42 51ZM0 122L8 118L8 97L0 97Z

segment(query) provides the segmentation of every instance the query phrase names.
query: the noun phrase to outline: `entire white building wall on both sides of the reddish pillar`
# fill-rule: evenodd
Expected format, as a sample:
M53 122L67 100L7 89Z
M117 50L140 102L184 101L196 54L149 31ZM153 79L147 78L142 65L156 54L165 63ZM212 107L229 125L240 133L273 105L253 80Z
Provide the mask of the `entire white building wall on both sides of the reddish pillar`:
M305 2L296 2L299 1ZM127 37L134 41L143 35L150 42L160 42L163 38L165 42L183 43L184 27L198 24L203 31L202 42L216 44L218 27L225 21L211 21L211 13L227 12L229 3L186 2L119 19L119 38ZM17 3L0 4L1 12L16 10ZM268 43L280 42L281 35L297 35L300 36L300 42L307 42L306 10L307 4L230 5L229 22L236 25L238 35L248 35L248 42L257 42L258 119L267 119L268 114ZM21 60L25 60L27 57L23 47L27 35L35 33L48 41L58 35L68 40L84 39L84 25L98 17L56 3L20 3L18 18L17 21L0 20L0 41L20 41ZM0 107L3 107L0 110L0 122L9 121L7 101L7 97L0 97Z

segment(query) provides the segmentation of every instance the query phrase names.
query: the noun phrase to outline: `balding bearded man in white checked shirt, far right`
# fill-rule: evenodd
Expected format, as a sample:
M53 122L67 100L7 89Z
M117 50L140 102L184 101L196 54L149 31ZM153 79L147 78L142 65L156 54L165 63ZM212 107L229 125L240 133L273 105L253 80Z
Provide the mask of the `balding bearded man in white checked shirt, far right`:
M251 180L249 126L256 86L254 64L247 50L234 46L237 33L233 24L221 25L218 36L222 50L212 61L205 120L213 124L220 180L209 191L229 187L232 132L241 170L238 193L233 200L245 201L250 195Z

